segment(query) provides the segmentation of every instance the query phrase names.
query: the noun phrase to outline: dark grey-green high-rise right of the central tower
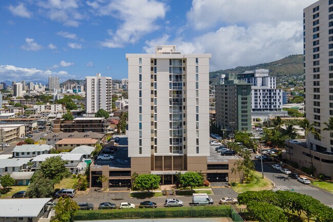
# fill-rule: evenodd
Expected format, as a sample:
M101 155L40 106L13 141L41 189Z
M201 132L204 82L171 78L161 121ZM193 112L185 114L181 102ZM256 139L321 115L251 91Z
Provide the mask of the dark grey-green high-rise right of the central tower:
M216 123L227 131L251 131L251 84L229 73L215 88Z

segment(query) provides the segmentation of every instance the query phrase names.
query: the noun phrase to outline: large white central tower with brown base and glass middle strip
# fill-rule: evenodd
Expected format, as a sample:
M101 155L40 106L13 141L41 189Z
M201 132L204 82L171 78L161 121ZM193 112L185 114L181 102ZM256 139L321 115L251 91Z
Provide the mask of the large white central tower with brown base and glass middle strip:
M206 171L209 147L209 59L156 46L126 54L132 173L175 181L176 171Z

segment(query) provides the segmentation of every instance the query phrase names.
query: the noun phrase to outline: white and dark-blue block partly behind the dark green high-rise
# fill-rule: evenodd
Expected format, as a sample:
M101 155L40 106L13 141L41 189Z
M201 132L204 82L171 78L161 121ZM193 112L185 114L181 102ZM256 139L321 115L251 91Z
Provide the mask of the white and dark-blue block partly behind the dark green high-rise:
M251 84L253 112L282 110L282 90L276 88L276 77L268 73L268 69L256 69L238 74L238 79Z

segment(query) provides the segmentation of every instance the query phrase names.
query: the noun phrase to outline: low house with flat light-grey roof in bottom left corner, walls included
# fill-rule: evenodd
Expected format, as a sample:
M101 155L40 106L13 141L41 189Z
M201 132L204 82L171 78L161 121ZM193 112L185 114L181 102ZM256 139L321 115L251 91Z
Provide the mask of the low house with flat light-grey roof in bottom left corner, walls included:
M51 198L0 199L0 222L48 222L54 211L45 206Z

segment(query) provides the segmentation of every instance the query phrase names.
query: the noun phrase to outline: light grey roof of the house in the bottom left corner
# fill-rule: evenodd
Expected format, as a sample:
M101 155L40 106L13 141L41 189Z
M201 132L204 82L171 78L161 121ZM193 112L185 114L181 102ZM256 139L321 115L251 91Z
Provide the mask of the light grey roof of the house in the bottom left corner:
M36 217L51 198L0 199L0 217Z

